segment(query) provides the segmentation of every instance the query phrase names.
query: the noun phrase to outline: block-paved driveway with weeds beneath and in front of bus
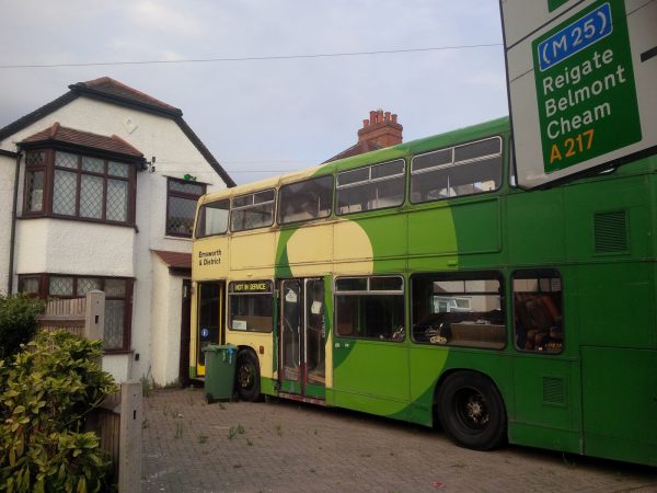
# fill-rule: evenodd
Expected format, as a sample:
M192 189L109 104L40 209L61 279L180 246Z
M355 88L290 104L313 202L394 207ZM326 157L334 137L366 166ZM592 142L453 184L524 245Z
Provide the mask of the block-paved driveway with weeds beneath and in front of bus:
M145 400L142 492L657 492L657 469L526 447L476 452L441 432L274 400Z

